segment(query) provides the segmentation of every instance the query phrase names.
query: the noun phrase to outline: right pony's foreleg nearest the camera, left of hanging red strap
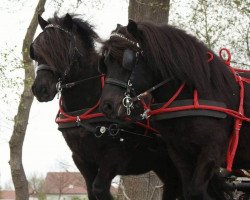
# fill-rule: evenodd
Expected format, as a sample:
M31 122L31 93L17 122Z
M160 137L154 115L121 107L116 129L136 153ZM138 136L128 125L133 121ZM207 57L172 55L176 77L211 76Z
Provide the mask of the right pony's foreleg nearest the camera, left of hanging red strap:
M188 196L189 199L204 199L212 200L213 198L208 194L208 184L214 176L215 170L220 166L220 160L223 153L221 152L221 145L209 144L203 147L196 163L196 168L190 183Z

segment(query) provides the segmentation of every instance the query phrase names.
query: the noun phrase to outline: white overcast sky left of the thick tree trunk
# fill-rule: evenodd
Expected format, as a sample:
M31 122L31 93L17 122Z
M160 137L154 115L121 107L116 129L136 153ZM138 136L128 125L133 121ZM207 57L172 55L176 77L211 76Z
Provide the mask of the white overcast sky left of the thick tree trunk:
M7 1L7 3L1 1L1 50L15 48L14 57L21 56L22 41L37 2L38 0ZM84 13L85 15L82 17L94 25L96 32L105 39L117 23L124 25L127 23L128 1L106 0L103 2L105 4L101 3L96 6L86 3L86 6L82 6L77 11L69 3L68 5L64 3L60 13ZM50 0L47 0L43 13L44 19L52 17L55 11L57 11L55 6L50 3ZM38 28L36 35L40 32L41 29ZM21 70L14 73L17 73L19 77L23 76ZM1 89L2 93L7 93L8 99L12 99L9 102L4 102L2 97L0 99L0 186L5 187L11 183L8 141L12 133L13 123L8 119L13 119L16 114L18 101L13 100L17 98L14 93L8 92L4 88ZM19 90L22 91L22 88ZM48 171L62 170L60 162L72 166L69 168L70 170L77 170L72 161L71 152L54 122L57 111L58 99L56 97L48 103L40 103L34 99L23 144L23 166L28 177L34 173L45 176Z

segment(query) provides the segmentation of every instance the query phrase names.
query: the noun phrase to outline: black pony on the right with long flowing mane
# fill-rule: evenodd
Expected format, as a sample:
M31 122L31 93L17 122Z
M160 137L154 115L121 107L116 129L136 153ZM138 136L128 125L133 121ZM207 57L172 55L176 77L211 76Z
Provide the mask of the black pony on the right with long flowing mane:
M104 42L102 55L99 68L106 73L106 83L100 109L109 118L123 118L126 110L132 110L133 101L148 92L155 103L170 102L166 107L182 100L191 100L189 104L193 105L196 99L225 104L238 111L237 74L234 76L203 43L175 27L130 20ZM249 73L243 76L249 77ZM245 115L250 116L249 84L244 84L244 88ZM192 111L191 116L175 115L154 123L177 167L187 200L218 199L210 195L208 186L215 171L225 166L230 136L238 128L230 115L216 117L206 113L197 116ZM150 111L144 114L150 119ZM243 122L234 169L250 168L249 134L250 126Z

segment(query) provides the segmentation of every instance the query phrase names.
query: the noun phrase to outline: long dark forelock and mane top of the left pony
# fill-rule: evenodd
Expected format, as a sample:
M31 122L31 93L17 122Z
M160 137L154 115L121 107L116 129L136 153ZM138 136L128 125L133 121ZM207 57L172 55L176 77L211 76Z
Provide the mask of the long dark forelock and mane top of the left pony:
M93 31L93 27L87 22L76 15L71 15L73 19L72 33L80 38L82 44L81 53L89 60L90 63L93 61L90 58L91 52L95 52L94 40L99 38L98 35ZM67 30L64 25L64 17L58 17L57 14L53 18L48 19L50 24L56 24ZM73 37L69 33L63 32L60 29L48 28L42 32L34 42L34 50L39 57L43 58L47 64L51 67L55 67L57 71L64 72L72 62L71 55L69 52L70 48L73 48L70 41ZM72 42L72 41L71 41ZM95 54L93 54L95 55ZM94 59L94 58L93 58Z

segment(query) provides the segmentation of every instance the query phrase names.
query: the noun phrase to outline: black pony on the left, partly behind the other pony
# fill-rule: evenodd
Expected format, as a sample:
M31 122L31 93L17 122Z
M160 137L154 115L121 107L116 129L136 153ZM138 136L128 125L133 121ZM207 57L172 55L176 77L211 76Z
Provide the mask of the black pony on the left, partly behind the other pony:
M72 112L78 113L74 115L77 118L82 109L86 112L86 108L98 105L101 95L99 56L94 46L99 38L88 22L69 14L55 15L48 21L38 16L38 21L43 32L30 46L30 57L38 64L32 92L40 102L51 101L61 92L61 111L66 113L61 122L69 119L67 115L72 117ZM111 130L105 131L105 127L112 122L100 115L94 120L88 124L77 118L77 122L59 125L86 180L90 200L112 199L109 190L116 175L150 170L164 182L163 199L180 196L177 172L158 138L143 137L145 129L133 124L111 135ZM100 126L102 130L96 129Z

